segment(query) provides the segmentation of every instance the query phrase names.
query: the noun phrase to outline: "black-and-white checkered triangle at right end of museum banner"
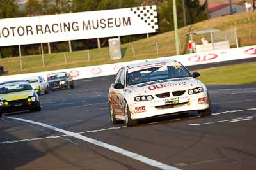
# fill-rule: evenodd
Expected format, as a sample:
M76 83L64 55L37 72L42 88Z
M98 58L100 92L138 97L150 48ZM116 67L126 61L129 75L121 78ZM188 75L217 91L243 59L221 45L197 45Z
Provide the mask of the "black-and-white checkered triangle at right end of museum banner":
M158 20L157 20L157 9L154 6L140 6L131 8L134 15L137 15L141 20L143 20L152 29L158 32Z

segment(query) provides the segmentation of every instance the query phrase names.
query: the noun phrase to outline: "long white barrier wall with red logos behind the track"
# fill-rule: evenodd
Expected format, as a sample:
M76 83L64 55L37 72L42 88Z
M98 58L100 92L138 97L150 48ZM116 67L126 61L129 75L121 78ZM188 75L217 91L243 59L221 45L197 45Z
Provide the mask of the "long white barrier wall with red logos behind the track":
M177 60L184 64L184 66L193 66L198 64L208 64L213 62L223 62L227 60L237 60L237 59L248 59L256 57L256 46L246 46L241 48L232 48L225 51L214 51L209 53L193 53L187 55L177 55L173 57L161 57L150 60L161 60L161 59L171 59ZM118 62L115 64L104 64L100 66L90 66L90 67L77 67L72 69L60 69L54 71L44 71L39 73L29 73L29 74L16 74L11 76L0 76L0 82L10 81L10 80L22 80L31 76L42 76L47 78L49 74L66 71L70 73L74 80L82 78L92 78L98 76L109 76L116 74L120 67L127 64L134 64L137 62L145 62L145 60L135 60L131 62Z

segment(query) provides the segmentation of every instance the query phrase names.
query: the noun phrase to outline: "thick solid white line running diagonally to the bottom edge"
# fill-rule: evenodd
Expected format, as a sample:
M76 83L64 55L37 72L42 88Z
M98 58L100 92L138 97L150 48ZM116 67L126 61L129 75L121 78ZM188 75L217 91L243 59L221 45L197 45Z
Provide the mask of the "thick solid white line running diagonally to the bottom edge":
M48 129L67 134L68 136L72 136L74 138L81 139L81 140L86 141L88 143L92 143L94 145L101 146L102 148L106 148L106 149L111 150L113 152L120 153L122 155L125 155L125 156L130 157L130 158L135 159L135 160L138 160L138 161L143 162L145 164L148 164L150 166L157 167L159 169L179 170L177 167L173 167L173 166L169 166L167 164L163 164L161 162L150 159L148 157L144 157L144 156L139 155L137 153L129 152L128 150L124 150L122 148L118 148L116 146L109 145L108 143L103 143L103 142L98 141L96 139L88 138L88 137L83 136L81 134L76 134L74 132L66 131L66 130L60 129L58 127L53 127L51 125L43 124L43 123L40 123L40 122L34 122L34 121L31 121L31 120L26 120L26 119L22 119L22 118L15 118L15 117L6 117L6 118L10 118L10 119L13 119L13 120L19 120L19 121L22 121L22 122L28 122L30 124L40 125L42 127L46 127Z

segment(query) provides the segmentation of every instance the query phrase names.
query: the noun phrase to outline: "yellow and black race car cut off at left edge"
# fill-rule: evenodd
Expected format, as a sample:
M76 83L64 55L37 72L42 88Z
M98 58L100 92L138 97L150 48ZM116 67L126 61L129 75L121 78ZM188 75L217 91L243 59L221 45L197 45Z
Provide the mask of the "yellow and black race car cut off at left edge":
M0 83L0 116L16 111L40 111L41 105L36 88L33 89L24 80Z

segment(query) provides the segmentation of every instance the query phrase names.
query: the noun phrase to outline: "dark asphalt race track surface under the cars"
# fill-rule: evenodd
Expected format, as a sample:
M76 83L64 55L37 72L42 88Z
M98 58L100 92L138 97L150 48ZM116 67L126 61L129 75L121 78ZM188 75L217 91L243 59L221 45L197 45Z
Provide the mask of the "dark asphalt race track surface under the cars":
M109 120L112 80L77 80L74 89L42 94L40 112L0 118L0 169L256 168L256 84L208 85L210 117L190 113L125 127Z

